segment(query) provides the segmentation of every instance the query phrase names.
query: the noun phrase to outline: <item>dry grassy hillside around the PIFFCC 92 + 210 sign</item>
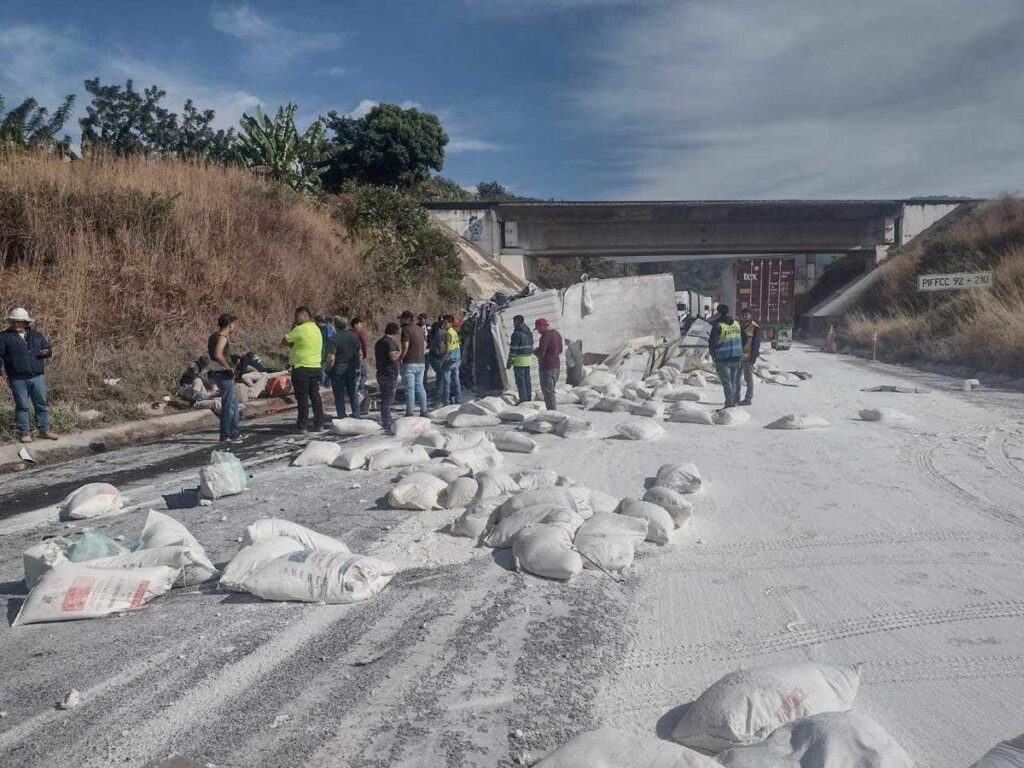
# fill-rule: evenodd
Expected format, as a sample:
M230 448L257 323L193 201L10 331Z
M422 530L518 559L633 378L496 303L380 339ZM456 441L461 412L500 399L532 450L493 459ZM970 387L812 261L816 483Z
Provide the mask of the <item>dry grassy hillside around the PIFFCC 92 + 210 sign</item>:
M878 288L848 319L848 338L892 359L973 366L1024 374L1024 200L978 204L901 249ZM929 295L918 275L991 270L995 287Z

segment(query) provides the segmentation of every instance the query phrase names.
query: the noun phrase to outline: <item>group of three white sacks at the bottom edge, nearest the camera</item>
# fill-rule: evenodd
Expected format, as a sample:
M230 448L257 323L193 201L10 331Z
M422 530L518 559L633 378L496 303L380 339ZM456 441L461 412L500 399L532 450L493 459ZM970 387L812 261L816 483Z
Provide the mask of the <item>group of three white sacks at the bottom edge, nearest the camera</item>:
M676 744L653 736L591 731L535 765L911 768L909 757L885 728L850 711L859 684L859 665L805 662L739 670L686 708L672 732Z

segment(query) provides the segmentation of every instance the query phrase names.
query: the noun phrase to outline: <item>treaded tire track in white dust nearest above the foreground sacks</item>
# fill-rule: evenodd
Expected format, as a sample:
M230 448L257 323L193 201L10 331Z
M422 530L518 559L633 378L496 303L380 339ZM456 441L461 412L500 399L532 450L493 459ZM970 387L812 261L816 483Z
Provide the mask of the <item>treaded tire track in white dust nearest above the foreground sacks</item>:
M851 637L881 632L897 632L957 622L1024 616L1024 600L1004 600L977 603L963 608L933 608L850 618L809 627L793 632L777 632L762 637L735 641L715 641L678 645L660 650L643 650L629 654L625 666L630 669L657 667L666 664L685 665L698 662L728 662L735 658L768 655L784 650L846 640Z

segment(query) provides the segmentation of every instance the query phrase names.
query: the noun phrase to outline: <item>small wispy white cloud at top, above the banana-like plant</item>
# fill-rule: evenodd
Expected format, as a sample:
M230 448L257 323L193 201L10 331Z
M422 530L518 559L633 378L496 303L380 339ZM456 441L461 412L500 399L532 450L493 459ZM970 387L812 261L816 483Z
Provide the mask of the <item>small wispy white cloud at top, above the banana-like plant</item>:
M260 15L247 3L214 5L210 24L243 43L242 62L251 70L282 69L308 53L340 48L344 42L344 36L334 32L286 27Z

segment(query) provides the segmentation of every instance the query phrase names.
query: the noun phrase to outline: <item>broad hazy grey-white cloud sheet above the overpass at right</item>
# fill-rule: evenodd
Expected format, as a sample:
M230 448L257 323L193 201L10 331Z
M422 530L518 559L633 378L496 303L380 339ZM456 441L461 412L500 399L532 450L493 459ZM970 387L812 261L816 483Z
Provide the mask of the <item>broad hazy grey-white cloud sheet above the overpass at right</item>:
M606 30L609 196L987 195L1024 178L1019 0L716 0Z

